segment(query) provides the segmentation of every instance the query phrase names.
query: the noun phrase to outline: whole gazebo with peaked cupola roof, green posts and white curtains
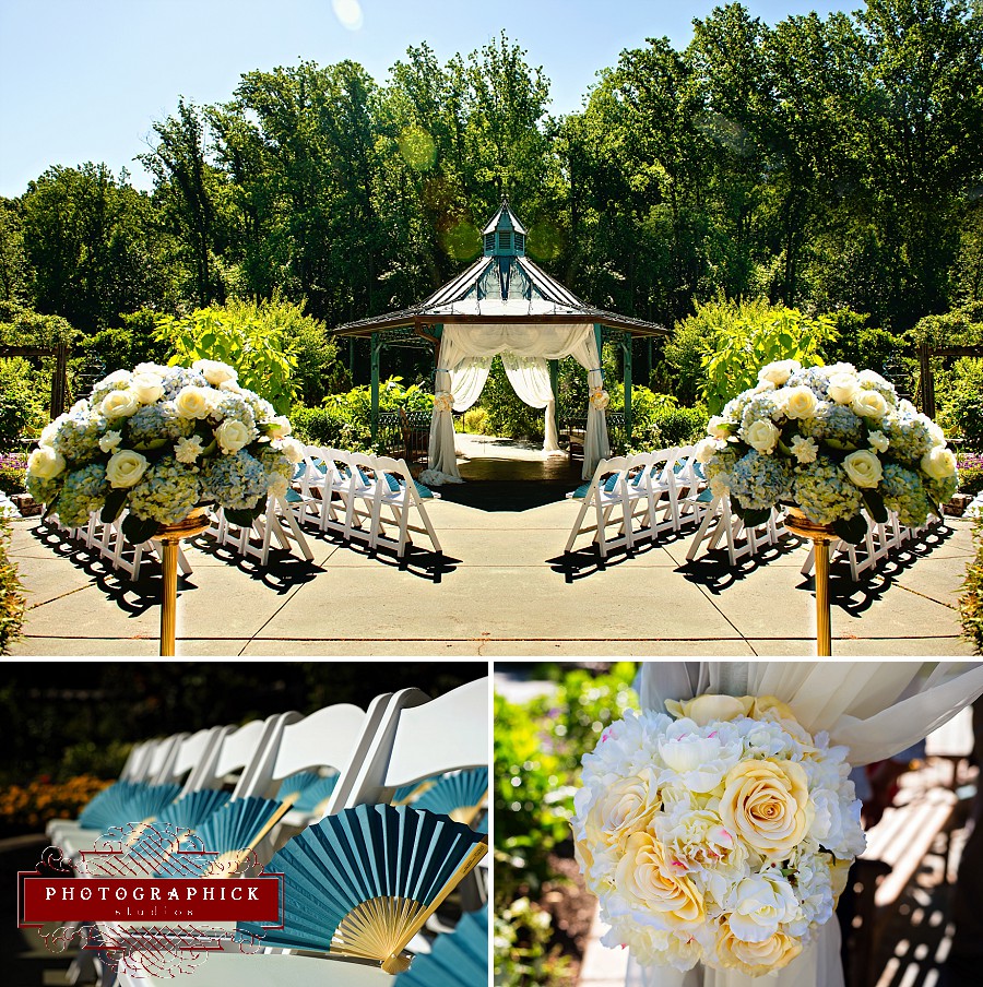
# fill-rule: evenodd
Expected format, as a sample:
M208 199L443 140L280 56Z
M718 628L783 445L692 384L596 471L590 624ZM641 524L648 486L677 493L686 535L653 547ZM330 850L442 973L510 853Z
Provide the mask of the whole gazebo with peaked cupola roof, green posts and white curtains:
M587 305L550 277L525 255L525 227L507 201L482 239L483 255L419 305L334 330L337 336L370 341L372 431L379 415L382 350L423 345L434 347L437 367L429 483L460 481L452 413L466 411L478 400L496 355L501 355L519 396L545 409L544 451L557 451L558 360L572 356L587 371L591 389L583 463L589 478L609 454L601 371L604 342L616 342L624 354L625 429L630 436L632 340L668 335L670 330Z

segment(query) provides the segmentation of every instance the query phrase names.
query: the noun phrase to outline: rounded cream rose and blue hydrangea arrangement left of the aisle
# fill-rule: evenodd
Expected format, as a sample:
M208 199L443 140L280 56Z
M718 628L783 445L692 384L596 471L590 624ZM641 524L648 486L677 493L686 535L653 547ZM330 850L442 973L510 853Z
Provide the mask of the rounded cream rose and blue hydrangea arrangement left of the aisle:
M45 428L27 459L27 490L69 527L96 511L115 521L127 508L133 544L202 504L249 524L304 457L289 432L226 364L140 364L104 378Z

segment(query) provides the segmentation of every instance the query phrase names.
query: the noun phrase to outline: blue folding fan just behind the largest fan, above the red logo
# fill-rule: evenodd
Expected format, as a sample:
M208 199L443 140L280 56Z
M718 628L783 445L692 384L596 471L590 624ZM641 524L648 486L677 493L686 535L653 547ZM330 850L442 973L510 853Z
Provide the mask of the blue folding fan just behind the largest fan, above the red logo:
M236 873L293 805L292 798L227 801L185 840L157 869L157 877L223 877Z

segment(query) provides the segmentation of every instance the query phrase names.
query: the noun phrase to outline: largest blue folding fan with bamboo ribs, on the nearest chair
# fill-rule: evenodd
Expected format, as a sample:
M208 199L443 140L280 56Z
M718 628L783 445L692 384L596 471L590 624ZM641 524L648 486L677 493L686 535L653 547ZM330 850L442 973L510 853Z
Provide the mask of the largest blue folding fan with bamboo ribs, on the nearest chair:
M284 875L283 926L237 926L264 947L311 949L402 973L402 954L487 837L406 806L357 806L328 816L283 847L267 873Z

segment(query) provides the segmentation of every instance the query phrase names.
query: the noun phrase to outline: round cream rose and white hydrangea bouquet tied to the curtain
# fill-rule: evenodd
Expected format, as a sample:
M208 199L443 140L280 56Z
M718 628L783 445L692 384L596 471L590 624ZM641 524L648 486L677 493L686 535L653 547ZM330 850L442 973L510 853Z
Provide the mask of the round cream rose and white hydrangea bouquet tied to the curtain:
M642 964L779 970L832 916L864 848L846 748L773 697L665 705L583 758L573 833L602 941Z

